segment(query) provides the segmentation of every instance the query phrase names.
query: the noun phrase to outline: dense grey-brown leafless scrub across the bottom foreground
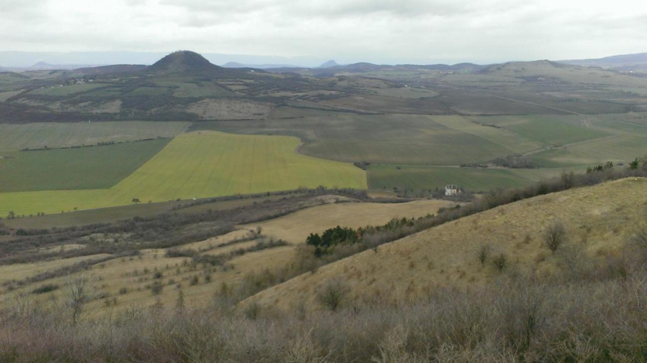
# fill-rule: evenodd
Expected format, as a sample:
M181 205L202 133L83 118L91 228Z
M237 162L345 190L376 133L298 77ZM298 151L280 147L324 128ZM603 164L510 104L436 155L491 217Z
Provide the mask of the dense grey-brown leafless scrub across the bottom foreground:
M643 242L644 243L644 242ZM7 304L4 361L644 361L642 254L551 282L502 275L410 306L232 313L149 307L71 324L69 308ZM628 268L642 264L638 269Z

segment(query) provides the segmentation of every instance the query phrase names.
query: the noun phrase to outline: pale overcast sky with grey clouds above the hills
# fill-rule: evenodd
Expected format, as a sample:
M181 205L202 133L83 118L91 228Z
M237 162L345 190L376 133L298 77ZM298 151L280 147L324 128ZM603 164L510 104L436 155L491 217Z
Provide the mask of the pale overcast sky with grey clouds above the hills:
M188 49L340 63L647 52L644 0L0 0L0 50Z

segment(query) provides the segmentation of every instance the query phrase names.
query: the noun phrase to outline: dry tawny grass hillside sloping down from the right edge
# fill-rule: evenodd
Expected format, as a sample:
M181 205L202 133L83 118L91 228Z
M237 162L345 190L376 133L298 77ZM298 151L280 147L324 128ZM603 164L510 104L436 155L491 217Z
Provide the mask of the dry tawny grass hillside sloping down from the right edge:
M604 257L615 253L644 222L647 179L628 178L571 189L503 205L483 213L413 234L276 285L243 302L292 309L320 309L317 295L331 280L341 280L346 302L401 304L439 287L468 287L492 282L501 272L492 257L503 253L509 271L553 275L578 264L580 253ZM544 231L560 221L567 242L554 254ZM485 264L477 258L490 246ZM568 263L570 261L570 264Z

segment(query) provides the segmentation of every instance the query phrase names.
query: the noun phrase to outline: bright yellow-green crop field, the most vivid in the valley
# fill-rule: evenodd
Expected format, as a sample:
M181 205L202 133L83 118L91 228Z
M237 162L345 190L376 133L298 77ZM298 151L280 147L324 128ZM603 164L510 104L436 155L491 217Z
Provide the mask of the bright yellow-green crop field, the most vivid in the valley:
M284 136L182 134L110 189L0 193L0 213L60 213L127 205L133 198L164 202L302 186L366 189L361 169L298 154L298 145Z

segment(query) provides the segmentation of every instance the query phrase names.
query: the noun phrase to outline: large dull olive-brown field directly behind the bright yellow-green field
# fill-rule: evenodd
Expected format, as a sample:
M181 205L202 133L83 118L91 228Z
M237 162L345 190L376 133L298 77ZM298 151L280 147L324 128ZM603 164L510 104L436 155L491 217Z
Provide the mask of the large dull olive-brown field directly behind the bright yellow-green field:
M507 147L434 119L422 115L340 114L334 118L200 122L192 129L297 136L305 141L300 148L303 154L339 161L455 165L514 154Z

